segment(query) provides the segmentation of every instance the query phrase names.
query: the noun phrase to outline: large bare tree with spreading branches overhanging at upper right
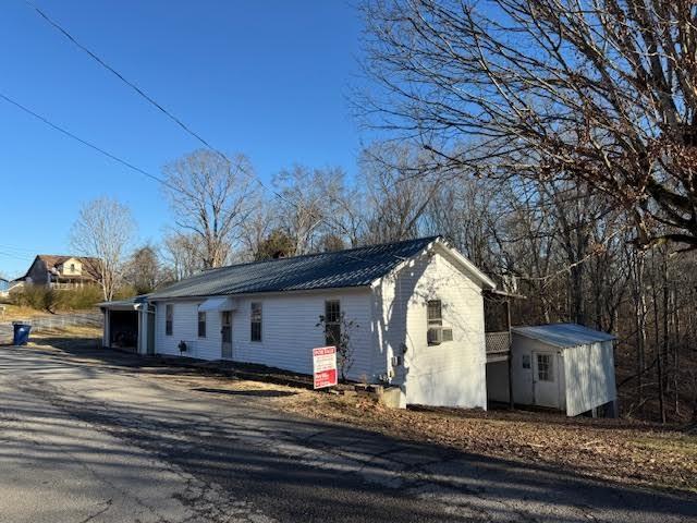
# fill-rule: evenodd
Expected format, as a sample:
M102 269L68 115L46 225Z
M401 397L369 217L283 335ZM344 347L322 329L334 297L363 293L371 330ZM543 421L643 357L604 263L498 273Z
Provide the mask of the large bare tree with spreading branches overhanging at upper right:
M564 173L640 244L697 247L695 2L368 0L365 20L374 125L450 168Z

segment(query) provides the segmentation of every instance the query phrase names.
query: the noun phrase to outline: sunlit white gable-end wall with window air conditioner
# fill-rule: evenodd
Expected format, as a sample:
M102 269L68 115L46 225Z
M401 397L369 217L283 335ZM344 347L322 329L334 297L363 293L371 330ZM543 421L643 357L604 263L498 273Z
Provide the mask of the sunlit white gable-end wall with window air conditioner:
M424 254L375 289L378 361L389 363L393 382L411 404L486 409L486 352L481 289L444 256ZM441 300L443 327L453 341L427 342L427 302ZM404 365L391 356L403 353Z

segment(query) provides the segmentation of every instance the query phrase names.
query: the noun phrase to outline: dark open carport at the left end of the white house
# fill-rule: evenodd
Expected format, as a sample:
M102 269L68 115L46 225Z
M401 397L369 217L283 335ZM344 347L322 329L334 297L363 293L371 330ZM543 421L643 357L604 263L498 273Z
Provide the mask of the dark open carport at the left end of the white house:
M139 354L155 349L155 312L147 295L99 304L105 315L102 345Z

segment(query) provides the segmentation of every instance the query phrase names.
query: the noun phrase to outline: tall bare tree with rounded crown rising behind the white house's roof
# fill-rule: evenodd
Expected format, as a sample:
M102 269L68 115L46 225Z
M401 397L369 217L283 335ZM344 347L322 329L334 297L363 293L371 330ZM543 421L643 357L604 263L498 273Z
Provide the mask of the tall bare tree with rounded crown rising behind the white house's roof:
M199 149L167 165L164 173L174 222L197 236L203 266L224 265L253 208L256 186L249 161Z

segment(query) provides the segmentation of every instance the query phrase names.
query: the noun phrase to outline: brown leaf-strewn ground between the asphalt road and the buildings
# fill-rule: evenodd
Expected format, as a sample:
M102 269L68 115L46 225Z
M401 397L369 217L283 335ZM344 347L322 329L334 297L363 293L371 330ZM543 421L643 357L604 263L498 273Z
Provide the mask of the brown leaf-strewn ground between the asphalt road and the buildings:
M95 344L100 332L73 329L46 333L73 344ZM37 337L36 341L41 342ZM149 361L150 362L150 361ZM149 365L149 364L148 364ZM346 391L343 396L304 388L211 375L210 369L182 368L142 372L155 379L188 388L205 387L225 394L232 390L268 390L269 406L307 416L363 427L414 441L429 441L492 458L546 463L597 478L657 488L697 492L697 430L629 419L567 418L555 413L409 408L392 410L372 398ZM272 393L272 392L281 393ZM282 392L294 392L283 394Z

